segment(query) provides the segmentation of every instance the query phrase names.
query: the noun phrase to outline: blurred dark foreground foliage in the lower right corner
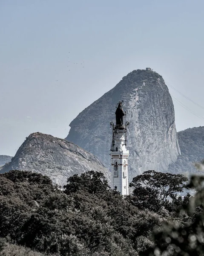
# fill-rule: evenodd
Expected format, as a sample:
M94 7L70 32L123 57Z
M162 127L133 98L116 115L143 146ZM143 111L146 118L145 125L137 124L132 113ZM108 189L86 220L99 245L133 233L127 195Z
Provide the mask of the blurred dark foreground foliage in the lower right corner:
M202 164L203 165L203 164ZM192 176L189 188L196 194L190 199L180 215L186 219L183 224L166 221L160 230L154 231L155 244L143 255L147 256L201 256L204 255L204 176Z

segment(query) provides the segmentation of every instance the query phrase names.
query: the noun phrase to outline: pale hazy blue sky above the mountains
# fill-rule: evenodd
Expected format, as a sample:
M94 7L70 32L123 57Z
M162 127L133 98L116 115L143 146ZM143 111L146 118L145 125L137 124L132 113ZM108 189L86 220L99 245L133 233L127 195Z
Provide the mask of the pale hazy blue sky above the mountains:
M0 154L37 131L65 138L78 113L146 67L180 101L177 131L203 126L203 0L0 0Z

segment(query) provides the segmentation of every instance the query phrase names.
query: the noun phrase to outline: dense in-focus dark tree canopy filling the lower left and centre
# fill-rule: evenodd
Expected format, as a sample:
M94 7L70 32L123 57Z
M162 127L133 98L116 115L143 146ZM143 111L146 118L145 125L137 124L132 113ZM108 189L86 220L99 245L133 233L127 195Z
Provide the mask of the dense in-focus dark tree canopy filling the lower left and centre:
M0 237L41 253L138 255L161 221L111 191L98 172L74 175L64 192L37 173L0 175Z

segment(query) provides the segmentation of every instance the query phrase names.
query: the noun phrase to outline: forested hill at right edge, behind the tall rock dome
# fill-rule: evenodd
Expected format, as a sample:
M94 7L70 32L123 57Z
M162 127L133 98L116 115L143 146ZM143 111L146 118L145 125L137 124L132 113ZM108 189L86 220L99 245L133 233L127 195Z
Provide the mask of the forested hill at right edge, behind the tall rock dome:
M168 172L187 175L203 174L195 168L193 163L204 160L204 126L179 131L178 143L181 155L169 166Z

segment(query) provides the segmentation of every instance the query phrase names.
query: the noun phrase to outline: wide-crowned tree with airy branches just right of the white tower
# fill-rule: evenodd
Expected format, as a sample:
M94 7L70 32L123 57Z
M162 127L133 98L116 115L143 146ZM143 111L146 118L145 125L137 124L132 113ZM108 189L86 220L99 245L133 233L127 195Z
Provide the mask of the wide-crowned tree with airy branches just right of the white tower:
M130 187L134 187L130 199L140 209L147 208L153 211L158 211L161 207L171 209L172 204L178 201L175 193L183 192L187 180L180 174L149 170L134 177L129 183ZM172 203L169 203L170 198Z

